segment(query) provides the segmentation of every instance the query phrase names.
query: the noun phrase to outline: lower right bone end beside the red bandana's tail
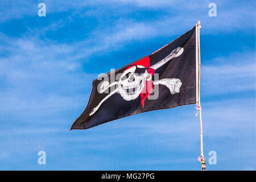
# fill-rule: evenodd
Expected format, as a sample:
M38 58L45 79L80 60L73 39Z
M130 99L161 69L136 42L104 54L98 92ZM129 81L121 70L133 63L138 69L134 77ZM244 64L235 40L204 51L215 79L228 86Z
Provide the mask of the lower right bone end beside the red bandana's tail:
M160 84L167 86L171 94L179 93L181 81L178 78L163 78L161 80L152 81L154 85Z

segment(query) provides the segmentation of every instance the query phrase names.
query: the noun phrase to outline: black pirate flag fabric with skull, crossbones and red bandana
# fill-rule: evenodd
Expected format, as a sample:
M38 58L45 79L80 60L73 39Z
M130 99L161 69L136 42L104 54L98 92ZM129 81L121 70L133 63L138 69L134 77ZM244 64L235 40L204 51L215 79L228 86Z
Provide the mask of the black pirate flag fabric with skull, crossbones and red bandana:
M196 27L149 56L98 77L73 129L196 104Z

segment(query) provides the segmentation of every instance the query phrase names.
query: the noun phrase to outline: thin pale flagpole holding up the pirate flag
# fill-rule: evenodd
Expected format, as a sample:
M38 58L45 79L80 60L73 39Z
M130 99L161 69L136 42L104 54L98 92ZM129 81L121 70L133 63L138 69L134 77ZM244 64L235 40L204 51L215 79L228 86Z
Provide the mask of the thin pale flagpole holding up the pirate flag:
M200 73L201 73L201 57L200 57L200 21L196 24L196 71L197 71L197 110L199 112L199 121L200 121L200 162L202 170L206 171L204 151L203 151L203 127L202 127L202 114L201 114L201 103L200 103Z

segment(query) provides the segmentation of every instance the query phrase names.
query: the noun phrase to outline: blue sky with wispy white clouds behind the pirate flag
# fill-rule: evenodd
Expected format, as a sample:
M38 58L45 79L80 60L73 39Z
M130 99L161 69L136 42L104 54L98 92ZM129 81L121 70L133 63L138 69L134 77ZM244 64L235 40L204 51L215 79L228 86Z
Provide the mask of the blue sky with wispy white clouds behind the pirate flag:
M46 17L38 3L46 3ZM201 21L209 170L255 170L255 1L1 1L0 169L200 170L194 105L69 131L92 80ZM46 151L46 165L38 151ZM209 151L217 164L208 163Z

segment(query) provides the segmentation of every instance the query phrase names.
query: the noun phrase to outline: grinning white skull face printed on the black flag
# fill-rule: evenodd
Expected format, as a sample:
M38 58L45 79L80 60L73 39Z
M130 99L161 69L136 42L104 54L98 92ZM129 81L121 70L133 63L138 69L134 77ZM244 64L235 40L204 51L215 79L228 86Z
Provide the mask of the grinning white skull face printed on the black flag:
M118 81L118 92L126 101L134 100L141 94L148 76L145 67L142 65L137 65L137 67L134 65L133 67L126 69ZM135 73L136 69L141 68L144 68L145 72L141 73L141 75Z

